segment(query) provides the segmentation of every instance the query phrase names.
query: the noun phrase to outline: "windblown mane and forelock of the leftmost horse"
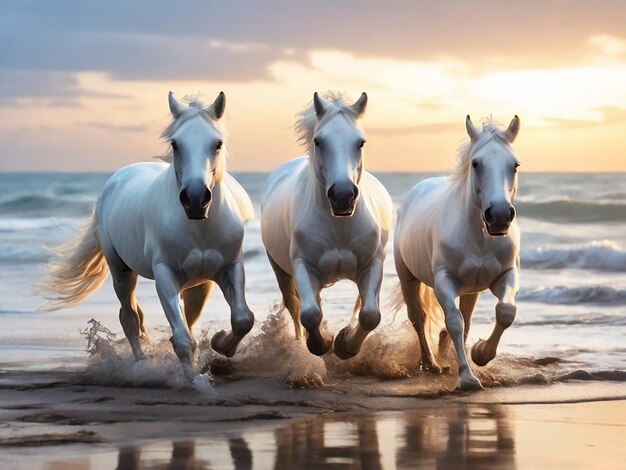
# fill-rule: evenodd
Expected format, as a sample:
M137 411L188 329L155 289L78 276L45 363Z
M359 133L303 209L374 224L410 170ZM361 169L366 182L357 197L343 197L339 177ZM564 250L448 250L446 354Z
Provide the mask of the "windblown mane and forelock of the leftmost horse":
M199 93L195 95L185 95L182 99L182 102L187 103L188 107L185 111L182 112L178 118L173 118L170 123L163 129L161 132L161 139L164 142L170 141L174 133L187 121L195 118L196 116L201 117L207 122L212 122L215 127L220 131L222 135L222 148L220 150L220 158L216 162L216 174L218 175L218 181L221 181L221 176L226 171L226 163L230 156L230 145L228 140L228 130L226 126L222 122L222 120L217 119L217 116L213 113L213 109L211 108L211 102L207 101ZM159 155L155 158L159 158L167 163L172 163L172 149L170 148L165 155Z

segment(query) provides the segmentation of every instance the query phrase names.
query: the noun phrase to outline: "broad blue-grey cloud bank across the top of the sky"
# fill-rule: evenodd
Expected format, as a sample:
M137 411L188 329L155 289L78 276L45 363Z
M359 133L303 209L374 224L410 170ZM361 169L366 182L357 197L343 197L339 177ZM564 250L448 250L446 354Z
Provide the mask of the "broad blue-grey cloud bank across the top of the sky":
M598 31L604 43L618 37L625 16L626 4L612 1L573 7L566 0L425 0L391 8L348 0L321 9L316 2L283 0L186 1L176 8L168 0L21 0L3 4L0 68L250 81L269 79L269 64L286 55L305 61L312 49L414 61L452 56L493 68L554 67L578 63L572 45Z

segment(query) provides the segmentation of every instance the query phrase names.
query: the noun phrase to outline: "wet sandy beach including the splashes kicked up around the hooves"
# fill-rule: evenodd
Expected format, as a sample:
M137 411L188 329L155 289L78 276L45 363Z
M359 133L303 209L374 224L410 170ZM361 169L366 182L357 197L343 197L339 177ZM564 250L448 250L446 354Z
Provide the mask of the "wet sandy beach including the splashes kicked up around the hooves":
M624 372L500 355L476 373L416 370L417 345L383 328L361 354L312 356L270 315L232 359L200 334L189 384L165 337L135 362L99 322L74 368L4 368L0 453L10 468L618 468ZM390 338L395 338L390 339ZM396 354L390 351L396 350ZM450 363L450 365L452 365Z

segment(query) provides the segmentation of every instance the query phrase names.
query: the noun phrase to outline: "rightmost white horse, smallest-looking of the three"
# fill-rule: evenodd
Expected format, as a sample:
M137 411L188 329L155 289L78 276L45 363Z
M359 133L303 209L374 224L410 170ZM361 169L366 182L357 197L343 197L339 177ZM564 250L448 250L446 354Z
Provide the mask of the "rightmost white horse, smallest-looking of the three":
M482 388L465 354L480 292L490 289L499 302L493 333L472 348L476 364L483 366L495 357L502 333L515 319L520 234L512 204L519 163L511 144L519 125L515 116L506 130L486 122L481 132L467 116L470 142L459 151L455 173L417 184L398 215L396 270L419 337L422 367L441 372L425 334L425 323L437 320L440 306L456 350L461 389ZM441 338L440 351L442 344L449 344L447 335Z

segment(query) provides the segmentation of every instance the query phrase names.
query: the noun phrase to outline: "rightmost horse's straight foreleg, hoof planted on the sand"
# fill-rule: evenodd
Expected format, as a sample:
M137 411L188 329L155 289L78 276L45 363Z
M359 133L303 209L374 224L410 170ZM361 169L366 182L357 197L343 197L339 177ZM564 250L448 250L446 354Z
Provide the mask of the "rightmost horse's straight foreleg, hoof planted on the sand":
M458 281L449 271L440 269L435 273L435 296L444 311L446 329L452 337L459 363L459 388L461 390L482 389L482 384L470 369L465 354L464 323L461 312L456 307Z

